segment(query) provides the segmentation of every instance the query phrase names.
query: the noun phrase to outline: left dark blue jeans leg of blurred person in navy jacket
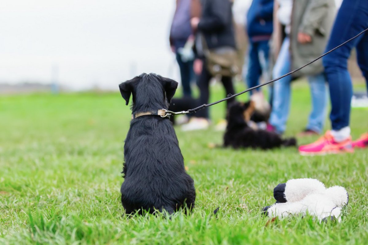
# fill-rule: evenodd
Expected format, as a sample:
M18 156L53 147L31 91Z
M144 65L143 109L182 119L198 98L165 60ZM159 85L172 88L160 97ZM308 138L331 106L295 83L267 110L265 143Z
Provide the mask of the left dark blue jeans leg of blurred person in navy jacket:
M247 86L248 88L257 86L259 84L259 77L262 74L262 67L259 64L258 48L259 43L249 43L249 55L248 55L248 72L247 72ZM259 91L258 89L255 89ZM250 91L253 94L253 90Z

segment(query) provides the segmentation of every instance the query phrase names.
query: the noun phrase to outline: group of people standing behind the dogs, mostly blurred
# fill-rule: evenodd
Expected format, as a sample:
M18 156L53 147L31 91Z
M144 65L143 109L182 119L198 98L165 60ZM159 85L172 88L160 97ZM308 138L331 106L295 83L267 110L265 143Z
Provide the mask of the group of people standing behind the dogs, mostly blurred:
M190 101L184 109L208 103L209 84L214 77L220 77L226 95L235 93L233 77L239 68L233 58L237 45L232 6L232 0L176 0L170 46L180 68L183 98ZM254 87L262 79L275 79L299 68L368 28L368 0L343 0L338 11L335 0L253 0L244 15L249 41L244 80L248 87ZM323 132L328 91L332 130L318 141L301 146L300 153L351 152L354 146L366 147L368 134L357 141L352 141L350 136L353 90L347 60L353 48L357 49L358 65L368 87L368 33L365 32L323 59L269 86L268 101L272 109L267 129L284 133L289 118L290 84L306 76L312 109L300 136ZM199 98L192 97L192 84L198 86ZM251 93L262 91L256 89ZM209 125L209 111L205 108L191 116L182 129L206 129Z

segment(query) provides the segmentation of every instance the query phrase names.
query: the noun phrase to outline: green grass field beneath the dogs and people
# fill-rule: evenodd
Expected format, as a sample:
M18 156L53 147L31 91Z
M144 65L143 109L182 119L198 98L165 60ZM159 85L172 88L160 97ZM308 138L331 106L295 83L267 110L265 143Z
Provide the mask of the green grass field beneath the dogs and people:
M238 90L243 87L239 87ZM215 87L211 101L223 97ZM240 99L245 100L247 95ZM307 85L293 89L286 135L306 124ZM211 108L216 123L224 104ZM367 131L367 110L353 109L353 137ZM192 215L171 220L122 216L120 171L129 108L117 93L0 97L0 244L365 244L367 150L302 157L296 149L210 149L222 133L176 128L197 189ZM329 125L329 121L327 121ZM309 143L314 138L299 139ZM341 223L260 215L272 190L292 178L342 185L350 195ZM217 217L212 211L220 207Z

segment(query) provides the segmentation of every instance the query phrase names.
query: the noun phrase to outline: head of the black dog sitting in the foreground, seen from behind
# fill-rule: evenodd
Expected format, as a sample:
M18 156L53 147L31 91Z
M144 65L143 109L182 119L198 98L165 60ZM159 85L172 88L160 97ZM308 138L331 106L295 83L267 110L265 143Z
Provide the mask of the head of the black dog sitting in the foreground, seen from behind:
M132 94L132 110L167 109L174 96L178 83L153 73L142 73L135 78L119 84L121 96L129 104Z

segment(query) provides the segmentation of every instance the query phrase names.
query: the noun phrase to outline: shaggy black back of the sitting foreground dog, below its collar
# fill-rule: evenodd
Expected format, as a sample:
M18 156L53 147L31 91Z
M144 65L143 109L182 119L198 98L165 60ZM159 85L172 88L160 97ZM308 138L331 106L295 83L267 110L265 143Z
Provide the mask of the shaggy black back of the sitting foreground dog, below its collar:
M194 206L194 181L185 172L178 140L168 119L145 116L132 122L124 155L121 202L127 213L141 208L171 213L185 206L185 201L189 208Z

